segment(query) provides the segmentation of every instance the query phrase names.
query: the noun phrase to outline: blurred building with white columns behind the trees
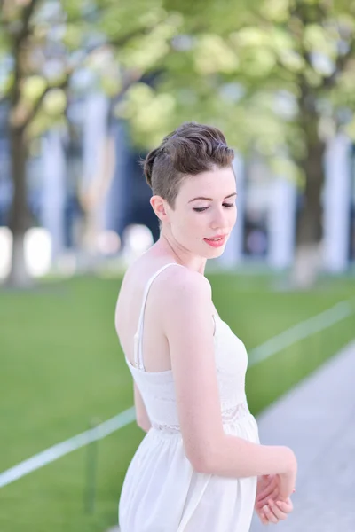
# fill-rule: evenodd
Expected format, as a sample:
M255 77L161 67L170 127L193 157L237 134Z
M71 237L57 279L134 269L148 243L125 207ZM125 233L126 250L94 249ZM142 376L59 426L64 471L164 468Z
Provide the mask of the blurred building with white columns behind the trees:
M6 114L6 107L0 107L3 226L12 197ZM69 134L52 129L28 161L28 202L34 223L51 234L53 260L75 250L88 226L94 252L101 233L114 232L122 239L131 224L145 225L156 240L151 191L138 163L145 153L132 147L128 128L114 117L111 102L101 94L78 99L69 106L68 116ZM336 137L328 146L325 169L324 263L327 270L342 272L355 261L355 150L346 137ZM238 223L218 261L230 267L248 260L287 268L293 260L301 200L296 186L272 176L257 155L253 160L237 156L235 171ZM97 251L105 254L99 242L102 239Z

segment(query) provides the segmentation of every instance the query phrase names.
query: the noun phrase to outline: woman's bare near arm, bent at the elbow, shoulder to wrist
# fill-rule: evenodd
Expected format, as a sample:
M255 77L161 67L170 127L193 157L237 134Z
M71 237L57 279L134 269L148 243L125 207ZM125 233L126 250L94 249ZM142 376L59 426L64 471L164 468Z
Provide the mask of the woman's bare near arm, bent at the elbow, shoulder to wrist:
M170 346L177 411L185 453L194 469L227 477L280 473L292 492L296 458L284 446L259 445L225 434L217 386L209 281L191 270L171 270L160 311ZM291 484L293 484L291 486Z

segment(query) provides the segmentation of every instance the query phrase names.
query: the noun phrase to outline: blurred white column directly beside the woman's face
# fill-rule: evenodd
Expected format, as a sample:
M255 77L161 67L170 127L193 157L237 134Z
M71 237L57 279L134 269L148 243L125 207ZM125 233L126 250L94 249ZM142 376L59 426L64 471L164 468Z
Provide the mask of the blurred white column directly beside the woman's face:
M218 259L218 265L222 268L234 268L241 261L244 225L244 161L241 155L235 154L233 161L234 173L237 183L237 222L225 246L225 252Z

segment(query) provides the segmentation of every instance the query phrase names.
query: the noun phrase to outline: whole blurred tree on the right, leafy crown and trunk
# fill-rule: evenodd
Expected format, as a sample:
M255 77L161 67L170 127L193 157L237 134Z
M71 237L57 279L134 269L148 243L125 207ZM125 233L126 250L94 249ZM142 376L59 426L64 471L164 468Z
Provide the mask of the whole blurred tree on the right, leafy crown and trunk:
M213 121L238 148L264 153L274 173L296 179L304 199L293 280L312 282L321 260L327 140L339 131L355 137L355 2L164 5L185 16L174 53L156 90L138 83L118 112L130 119L137 141L150 145L182 119Z

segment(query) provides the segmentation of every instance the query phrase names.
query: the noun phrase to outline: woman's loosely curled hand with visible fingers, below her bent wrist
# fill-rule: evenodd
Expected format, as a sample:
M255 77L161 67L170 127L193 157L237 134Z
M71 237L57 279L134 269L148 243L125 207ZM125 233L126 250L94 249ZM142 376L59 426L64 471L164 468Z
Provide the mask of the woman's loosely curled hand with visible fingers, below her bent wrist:
M292 512L291 499L280 497L280 476L264 475L259 477L256 488L256 513L264 525L285 520Z

